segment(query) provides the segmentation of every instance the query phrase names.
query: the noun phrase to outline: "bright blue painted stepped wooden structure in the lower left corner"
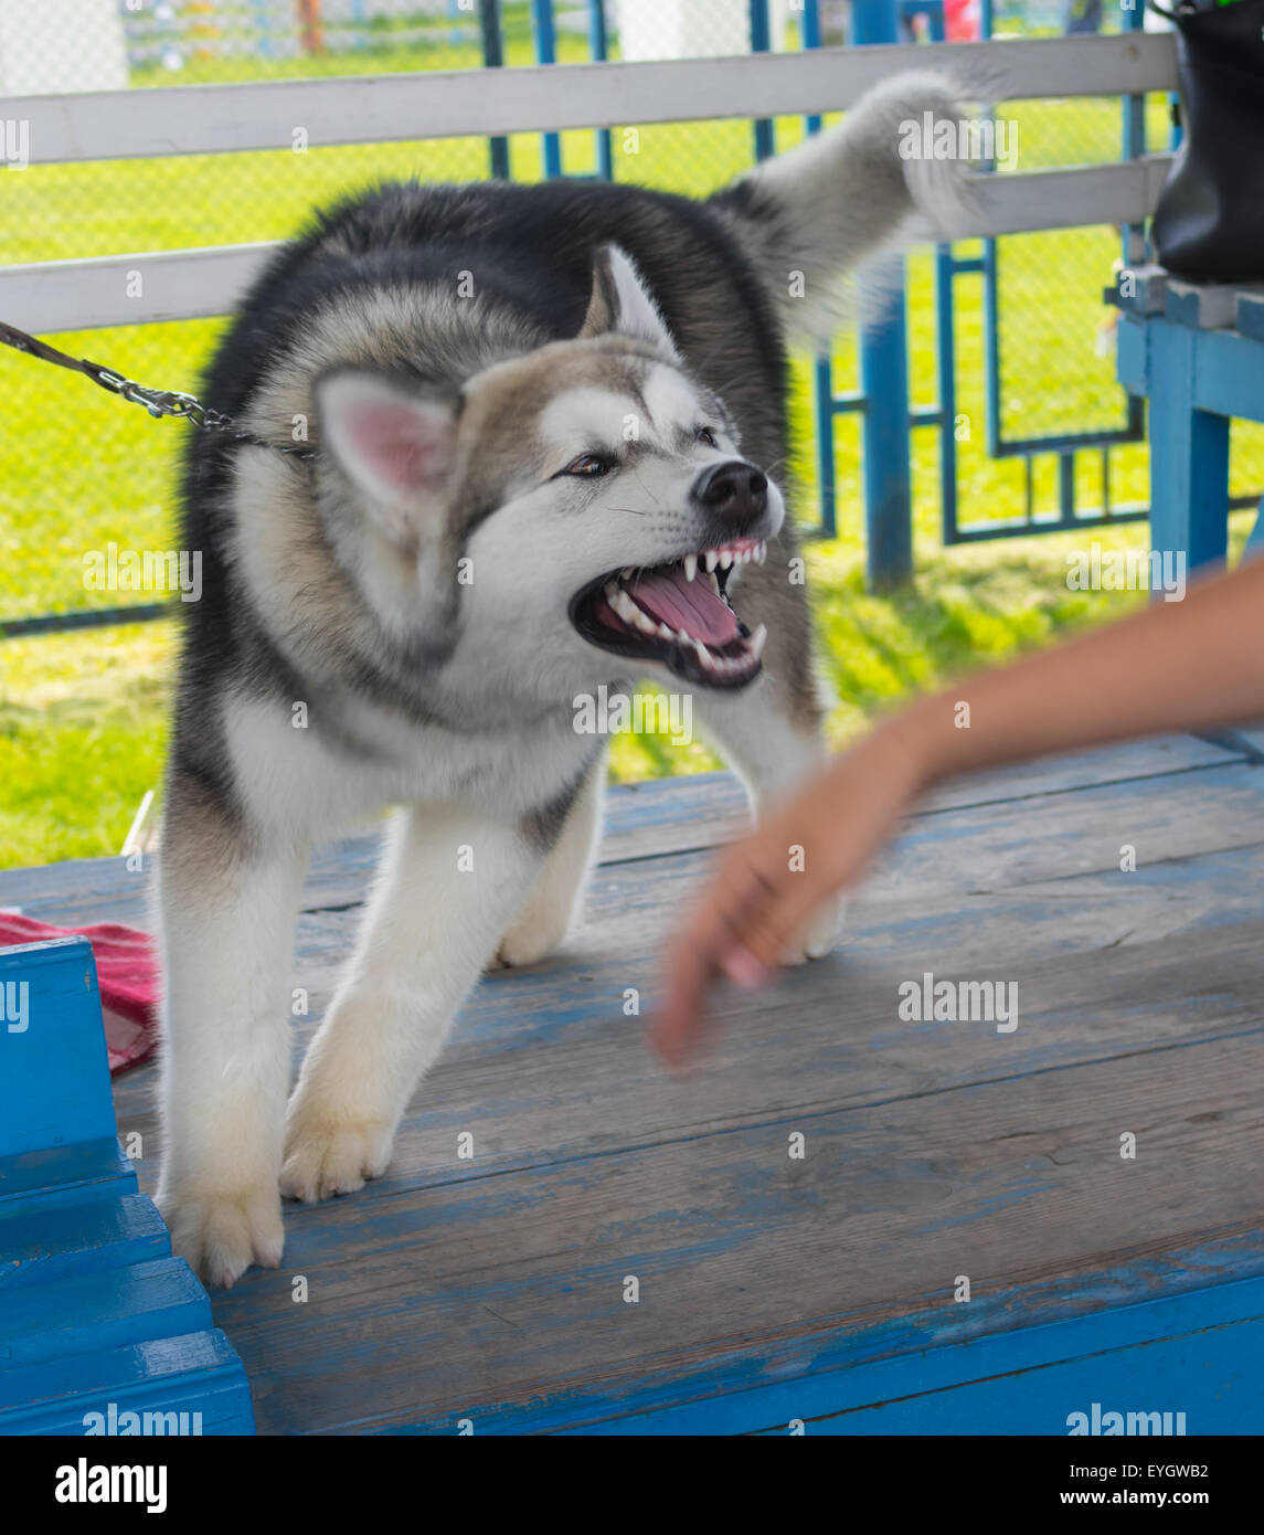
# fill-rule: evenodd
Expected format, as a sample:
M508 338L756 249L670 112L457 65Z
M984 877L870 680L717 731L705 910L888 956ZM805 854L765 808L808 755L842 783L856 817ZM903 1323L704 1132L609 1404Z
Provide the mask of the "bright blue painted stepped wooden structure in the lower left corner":
M0 950L0 1434L253 1434L115 1134L86 939Z

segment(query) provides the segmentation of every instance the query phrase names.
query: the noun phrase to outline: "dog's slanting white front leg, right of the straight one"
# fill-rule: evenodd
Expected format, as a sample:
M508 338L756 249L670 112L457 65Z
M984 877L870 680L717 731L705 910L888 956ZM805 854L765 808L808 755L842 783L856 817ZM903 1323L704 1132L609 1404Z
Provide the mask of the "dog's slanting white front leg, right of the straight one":
M351 967L290 1099L287 1199L350 1194L385 1171L408 1099L545 850L532 827L462 806L396 818Z

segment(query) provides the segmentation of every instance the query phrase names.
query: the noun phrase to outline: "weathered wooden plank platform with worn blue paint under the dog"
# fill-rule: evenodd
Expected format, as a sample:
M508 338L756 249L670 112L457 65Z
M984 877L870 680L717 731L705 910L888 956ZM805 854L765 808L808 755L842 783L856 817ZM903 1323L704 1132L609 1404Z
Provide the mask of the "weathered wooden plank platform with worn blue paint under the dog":
M1264 769L1183 738L953 784L854 900L839 952L723 998L709 1053L672 1081L623 995L649 1004L664 930L742 821L727 775L611 795L565 950L488 975L388 1174L290 1208L284 1268L215 1299L261 1432L845 1429L867 1362L907 1363L913 1400L937 1378L928 1351L1037 1340L1026 1368L1062 1346L1058 1326L1019 1331L1034 1325L1134 1308L1112 1346L1140 1348L1184 1294L1216 1297L1212 1331L1255 1306ZM357 838L313 866L296 1053L373 852ZM17 870L0 906L143 926L146 883L118 860ZM1017 982L1017 1028L902 1022L897 989L927 972ZM115 1085L146 1190L152 1094L150 1067ZM1258 1395L1243 1431L1264 1428Z

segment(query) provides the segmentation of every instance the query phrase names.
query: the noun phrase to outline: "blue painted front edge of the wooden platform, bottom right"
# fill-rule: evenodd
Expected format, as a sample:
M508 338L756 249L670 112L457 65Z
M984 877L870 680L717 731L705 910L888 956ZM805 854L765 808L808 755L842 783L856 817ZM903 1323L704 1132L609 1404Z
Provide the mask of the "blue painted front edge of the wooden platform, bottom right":
M1127 1271L1118 1271L1127 1280ZM976 1305L971 1302L971 1305ZM1057 1434L1074 1412L1184 1412L1184 1432L1252 1434L1259 1420L1264 1277L1230 1280L1060 1322L966 1331L946 1317L822 1339L811 1369L778 1380L767 1357L715 1362L670 1395L640 1389L634 1411L572 1426L560 1397L505 1411L483 1432L563 1434ZM923 1346L908 1349L911 1339ZM897 1352L885 1352L897 1343ZM778 1362L779 1363L779 1362ZM580 1403L583 1411L583 1403ZM1173 1431L1180 1432L1173 1420Z

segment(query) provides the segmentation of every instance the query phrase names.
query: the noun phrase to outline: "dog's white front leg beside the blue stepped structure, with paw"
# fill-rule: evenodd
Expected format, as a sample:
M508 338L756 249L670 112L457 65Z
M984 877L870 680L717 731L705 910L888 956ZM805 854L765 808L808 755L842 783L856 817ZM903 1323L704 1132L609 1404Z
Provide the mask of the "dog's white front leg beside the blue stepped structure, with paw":
M172 1246L209 1285L276 1268L287 981L307 853L252 849L190 775L167 787L158 904L163 1174Z

